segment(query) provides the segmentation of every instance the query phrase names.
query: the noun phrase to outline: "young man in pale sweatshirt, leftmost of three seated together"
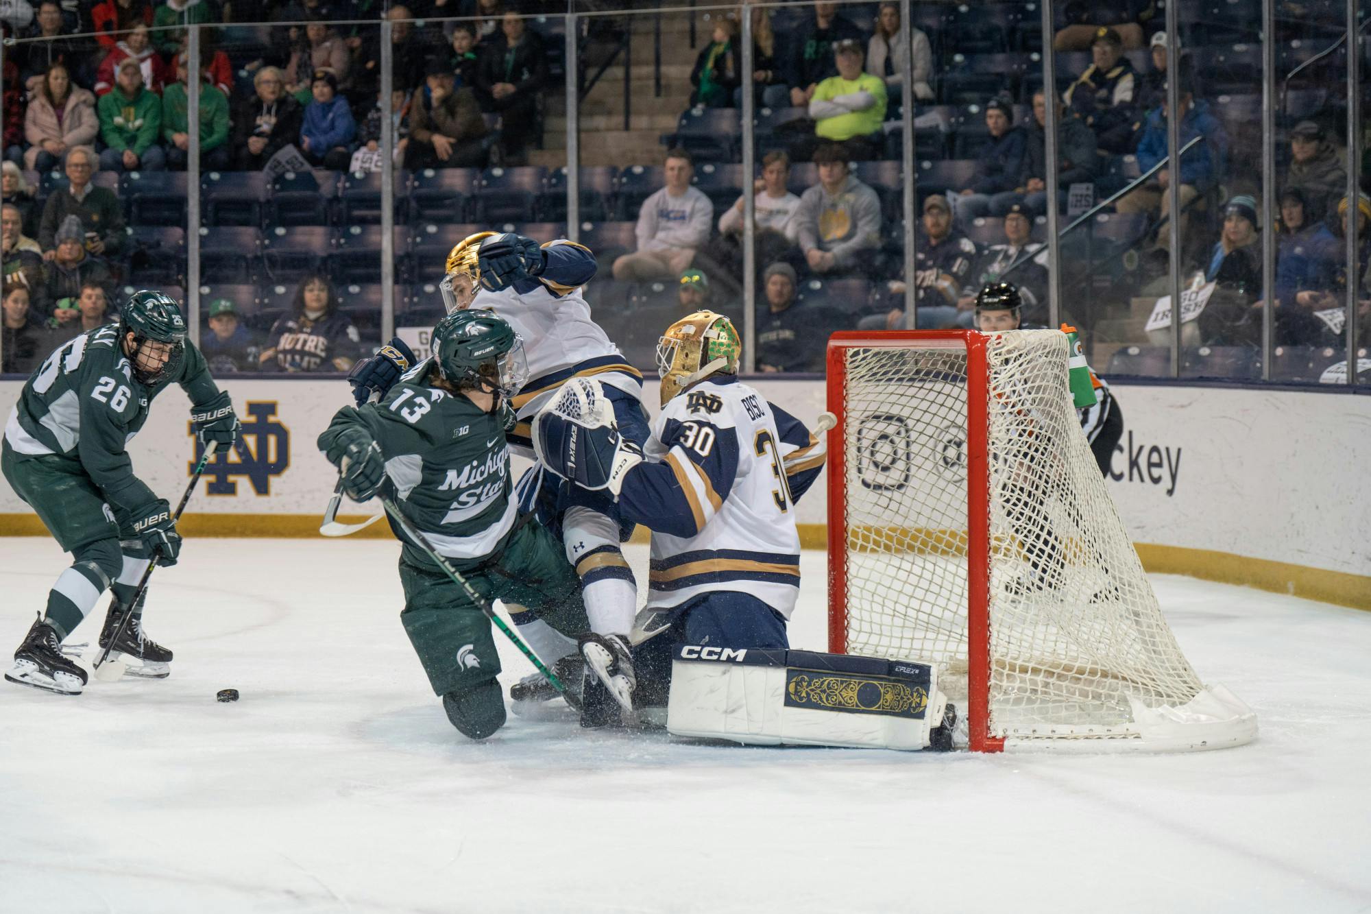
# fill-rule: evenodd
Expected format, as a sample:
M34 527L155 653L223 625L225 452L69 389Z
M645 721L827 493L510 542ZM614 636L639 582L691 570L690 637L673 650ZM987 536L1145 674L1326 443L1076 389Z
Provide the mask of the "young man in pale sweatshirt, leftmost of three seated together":
M614 279L628 283L679 276L695 259L695 251L709 240L714 204L690 180L695 165L686 150L666 152L662 169L666 187L657 191L638 211L638 251L614 261Z

